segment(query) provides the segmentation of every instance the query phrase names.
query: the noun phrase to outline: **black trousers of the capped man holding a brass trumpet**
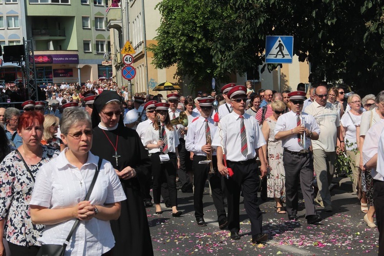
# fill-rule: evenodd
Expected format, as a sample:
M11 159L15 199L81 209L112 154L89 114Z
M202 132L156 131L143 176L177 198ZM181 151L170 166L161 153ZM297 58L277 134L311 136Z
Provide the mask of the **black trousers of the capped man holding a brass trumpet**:
M200 161L206 160L205 156L194 155L193 169L194 169L194 206L195 217L203 217L203 194L205 188L205 181L208 178L211 190L212 199L214 200L215 208L217 211L218 221L226 218L224 209L224 196L221 189L221 175L217 170L217 158L212 156L212 164L214 166L215 174L208 174L210 164L199 164Z

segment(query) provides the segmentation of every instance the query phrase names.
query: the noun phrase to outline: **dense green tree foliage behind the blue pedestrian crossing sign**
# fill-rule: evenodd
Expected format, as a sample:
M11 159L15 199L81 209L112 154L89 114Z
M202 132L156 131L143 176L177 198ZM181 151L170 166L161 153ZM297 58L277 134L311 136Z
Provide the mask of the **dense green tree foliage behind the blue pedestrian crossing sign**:
M310 81L382 89L382 1L163 0L158 8L153 63L177 65L176 75L193 86L262 65L266 35L293 35L294 54L311 63Z

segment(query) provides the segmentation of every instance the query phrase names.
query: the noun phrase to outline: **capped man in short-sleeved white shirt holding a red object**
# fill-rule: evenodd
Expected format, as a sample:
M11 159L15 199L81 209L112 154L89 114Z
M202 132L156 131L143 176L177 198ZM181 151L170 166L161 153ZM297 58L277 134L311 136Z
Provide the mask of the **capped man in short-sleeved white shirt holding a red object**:
M231 100L233 112L220 119L212 146L217 147L219 173L227 177L224 182L230 238L240 239L239 204L242 188L245 210L251 222L252 243L261 243L268 239L268 235L262 232L263 215L257 194L260 178L255 171L259 167L255 158L257 155L264 156L262 146L265 145L265 140L256 119L245 113L246 92L245 86L234 86L229 90L227 96ZM223 154L226 158L223 158ZM267 172L264 157L260 158L260 162L263 178Z

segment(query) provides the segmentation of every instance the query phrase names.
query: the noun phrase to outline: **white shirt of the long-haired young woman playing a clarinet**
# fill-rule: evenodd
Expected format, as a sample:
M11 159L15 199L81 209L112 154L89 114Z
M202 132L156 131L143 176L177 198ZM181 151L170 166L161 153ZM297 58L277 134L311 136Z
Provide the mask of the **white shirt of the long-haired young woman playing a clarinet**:
M165 129L165 134L167 135L168 152L176 153L176 147L180 143L179 136L177 136L176 127L174 126L173 131L169 131L166 127L164 127L164 129ZM145 132L143 145L146 146L148 144L157 144L158 141L159 141L159 130L155 130L155 127L153 125L148 126L148 129ZM152 150L148 149L148 152L150 154L158 153L160 152L160 148L152 148Z

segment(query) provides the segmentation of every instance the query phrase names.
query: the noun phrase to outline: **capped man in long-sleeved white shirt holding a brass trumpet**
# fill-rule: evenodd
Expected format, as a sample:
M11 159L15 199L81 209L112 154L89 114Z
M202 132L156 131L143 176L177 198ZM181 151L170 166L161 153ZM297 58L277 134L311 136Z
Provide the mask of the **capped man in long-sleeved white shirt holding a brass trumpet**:
M210 188L212 190L212 199L214 200L217 211L219 228L223 229L227 226L227 216L224 209L224 197L221 189L221 176L217 172L216 152L212 151L211 140L216 132L217 126L214 120L210 118L212 112L212 102L214 98L200 98L199 104L201 108L201 116L195 118L188 126L185 147L189 152L194 153L193 169L194 169L194 207L195 217L198 226L206 226L203 214L203 194L205 181L208 178ZM209 137L209 138L208 138ZM199 163L207 160L207 154L210 155L210 163Z

